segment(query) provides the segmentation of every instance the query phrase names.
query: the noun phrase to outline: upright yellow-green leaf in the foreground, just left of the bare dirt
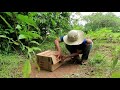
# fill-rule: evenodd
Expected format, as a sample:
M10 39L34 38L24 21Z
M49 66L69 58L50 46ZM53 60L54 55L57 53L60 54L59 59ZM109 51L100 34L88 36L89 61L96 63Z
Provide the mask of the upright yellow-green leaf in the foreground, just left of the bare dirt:
M30 60L25 61L22 72L23 72L23 77L24 78L29 78L30 77L30 73L31 73Z

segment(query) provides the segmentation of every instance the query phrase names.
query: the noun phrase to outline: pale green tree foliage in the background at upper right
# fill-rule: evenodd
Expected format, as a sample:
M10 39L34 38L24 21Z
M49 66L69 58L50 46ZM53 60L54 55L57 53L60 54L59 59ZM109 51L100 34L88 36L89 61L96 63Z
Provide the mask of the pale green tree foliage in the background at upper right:
M111 28L113 32L119 32L120 18L109 12L103 14L102 12L93 13L91 15L83 16L82 20L86 21L84 31L96 31L99 28Z

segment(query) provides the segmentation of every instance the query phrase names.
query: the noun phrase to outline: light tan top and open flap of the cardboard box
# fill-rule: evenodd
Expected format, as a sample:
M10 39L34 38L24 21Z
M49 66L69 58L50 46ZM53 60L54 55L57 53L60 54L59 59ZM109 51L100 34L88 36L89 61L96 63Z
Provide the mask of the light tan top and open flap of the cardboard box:
M41 52L41 53L38 53L37 56L45 56L45 57L51 57L52 59L52 63L53 64L56 64L58 63L59 61L61 61L60 59L56 59L56 54L57 51L51 51L51 50L47 50L47 51L44 51L44 52Z

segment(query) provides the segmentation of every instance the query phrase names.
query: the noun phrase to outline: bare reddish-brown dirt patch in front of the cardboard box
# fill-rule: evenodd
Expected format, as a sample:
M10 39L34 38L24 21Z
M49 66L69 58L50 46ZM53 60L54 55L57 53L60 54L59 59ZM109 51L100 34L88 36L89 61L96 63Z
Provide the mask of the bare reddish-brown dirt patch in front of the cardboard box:
M78 64L63 64L55 71L37 70L35 64L32 64L31 78L65 78L65 75L77 73L80 65Z

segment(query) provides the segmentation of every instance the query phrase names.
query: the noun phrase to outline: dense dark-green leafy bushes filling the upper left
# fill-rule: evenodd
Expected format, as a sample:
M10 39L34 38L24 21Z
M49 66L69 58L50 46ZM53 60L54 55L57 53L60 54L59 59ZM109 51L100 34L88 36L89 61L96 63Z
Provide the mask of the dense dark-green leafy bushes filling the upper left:
M0 52L22 51L30 57L46 38L53 40L70 29L69 16L68 12L1 12Z

